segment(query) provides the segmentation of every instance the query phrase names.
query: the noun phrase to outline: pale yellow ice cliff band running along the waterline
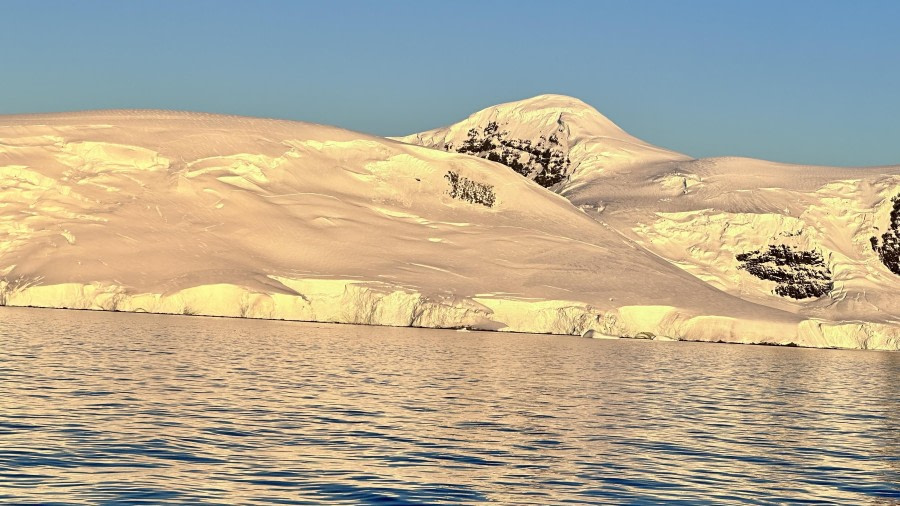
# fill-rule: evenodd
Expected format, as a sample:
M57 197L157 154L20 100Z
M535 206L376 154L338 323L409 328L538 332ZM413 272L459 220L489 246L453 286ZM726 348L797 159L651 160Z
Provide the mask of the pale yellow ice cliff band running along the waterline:
M293 296L250 294L230 285L227 288L223 285L194 287L169 295L125 295L120 291L108 291L108 288L98 290L94 285L78 285L77 290L72 284L32 286L7 294L5 303L0 307L567 335L593 339L900 351L900 327L873 322L829 322L800 316L795 322L753 321L728 316L691 315L663 306L624 306L600 310L585 303L554 300L459 297L451 304L416 292L394 291L373 295L364 285L347 282L332 288L338 286L339 290L330 290L331 298L323 297L321 293L298 293ZM210 288L215 290L210 292ZM359 291L354 293L354 290ZM192 293L198 291L205 293ZM81 296L73 297L76 292ZM231 292L230 297L226 295L228 292ZM50 294L53 297L49 297ZM348 298L356 302L366 301L367 304L347 304ZM115 305L110 305L111 300L116 302ZM156 301L152 310L142 307L147 306L147 300ZM207 303L198 303L200 300ZM253 300L254 305L248 306L248 300ZM274 307L267 307L261 301L271 302ZM280 305L276 305L278 302ZM323 313L323 306L330 307L331 311Z

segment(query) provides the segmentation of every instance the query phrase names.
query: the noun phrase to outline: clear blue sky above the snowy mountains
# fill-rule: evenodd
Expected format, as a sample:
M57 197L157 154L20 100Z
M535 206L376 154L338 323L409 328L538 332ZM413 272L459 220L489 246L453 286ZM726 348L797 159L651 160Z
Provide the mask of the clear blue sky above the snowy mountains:
M693 156L900 164L900 1L0 1L0 113L399 135L541 93Z

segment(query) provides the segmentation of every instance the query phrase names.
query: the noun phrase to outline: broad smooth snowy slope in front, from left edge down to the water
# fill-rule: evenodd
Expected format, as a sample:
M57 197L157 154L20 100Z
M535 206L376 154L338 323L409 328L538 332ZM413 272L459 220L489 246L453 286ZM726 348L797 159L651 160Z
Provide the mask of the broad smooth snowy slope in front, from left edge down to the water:
M0 304L900 347L890 321L726 293L610 223L496 163L333 127L0 117Z

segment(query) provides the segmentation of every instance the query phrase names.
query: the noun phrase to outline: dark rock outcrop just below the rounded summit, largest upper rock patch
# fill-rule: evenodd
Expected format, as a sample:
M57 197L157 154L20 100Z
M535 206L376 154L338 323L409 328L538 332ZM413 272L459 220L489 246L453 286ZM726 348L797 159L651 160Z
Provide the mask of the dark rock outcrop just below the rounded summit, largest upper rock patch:
M571 163L556 134L549 139L542 136L535 143L528 139L511 139L509 132L501 131L494 121L480 132L477 128L470 129L462 146L454 147L448 143L444 144L444 149L502 163L545 188L563 181Z

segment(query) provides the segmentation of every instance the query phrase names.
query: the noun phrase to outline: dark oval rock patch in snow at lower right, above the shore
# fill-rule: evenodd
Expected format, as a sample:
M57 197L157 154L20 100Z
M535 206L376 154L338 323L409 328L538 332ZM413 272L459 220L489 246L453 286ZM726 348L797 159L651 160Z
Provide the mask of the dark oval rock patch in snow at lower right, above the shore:
M765 251L737 255L740 268L759 279L775 281L775 293L792 299L821 297L833 288L831 270L818 251L771 245Z

